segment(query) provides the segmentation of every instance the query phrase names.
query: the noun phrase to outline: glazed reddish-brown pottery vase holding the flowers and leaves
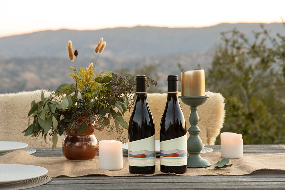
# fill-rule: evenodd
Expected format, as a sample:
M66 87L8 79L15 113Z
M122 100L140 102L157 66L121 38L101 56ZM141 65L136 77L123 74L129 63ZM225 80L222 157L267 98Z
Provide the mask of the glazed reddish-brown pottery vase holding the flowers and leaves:
M79 117L78 122L82 123L86 117ZM95 137L95 128L91 125L92 122L87 122L87 129L77 134L77 129L74 133L70 129L65 130L66 135L62 143L62 152L69 161L89 161L93 160L98 152L98 141Z

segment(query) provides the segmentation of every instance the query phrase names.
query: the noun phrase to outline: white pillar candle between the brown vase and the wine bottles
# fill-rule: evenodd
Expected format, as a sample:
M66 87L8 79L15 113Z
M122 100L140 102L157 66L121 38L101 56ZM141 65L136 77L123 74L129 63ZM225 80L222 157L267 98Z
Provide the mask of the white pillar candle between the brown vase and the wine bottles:
M102 170L121 170L123 168L122 142L117 140L99 141L99 168Z

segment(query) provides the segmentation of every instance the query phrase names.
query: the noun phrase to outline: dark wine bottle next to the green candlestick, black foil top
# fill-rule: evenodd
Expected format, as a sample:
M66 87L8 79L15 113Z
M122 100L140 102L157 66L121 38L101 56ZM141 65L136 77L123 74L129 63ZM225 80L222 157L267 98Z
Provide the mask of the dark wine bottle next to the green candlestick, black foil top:
M183 174L187 170L187 134L178 100L178 77L168 75L167 102L160 123L160 171Z

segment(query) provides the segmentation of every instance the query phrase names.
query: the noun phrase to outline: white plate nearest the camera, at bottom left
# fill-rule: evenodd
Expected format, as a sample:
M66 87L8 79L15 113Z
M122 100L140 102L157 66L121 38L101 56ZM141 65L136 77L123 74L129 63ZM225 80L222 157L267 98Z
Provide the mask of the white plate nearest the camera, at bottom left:
M16 183L43 176L47 173L46 168L22 164L0 164L0 171L0 184Z

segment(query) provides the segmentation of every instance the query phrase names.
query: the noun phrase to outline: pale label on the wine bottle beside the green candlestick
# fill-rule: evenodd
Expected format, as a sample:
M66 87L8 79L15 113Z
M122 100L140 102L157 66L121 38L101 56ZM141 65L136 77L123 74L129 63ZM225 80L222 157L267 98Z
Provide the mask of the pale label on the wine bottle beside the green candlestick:
M160 142L160 165L187 165L187 134Z

